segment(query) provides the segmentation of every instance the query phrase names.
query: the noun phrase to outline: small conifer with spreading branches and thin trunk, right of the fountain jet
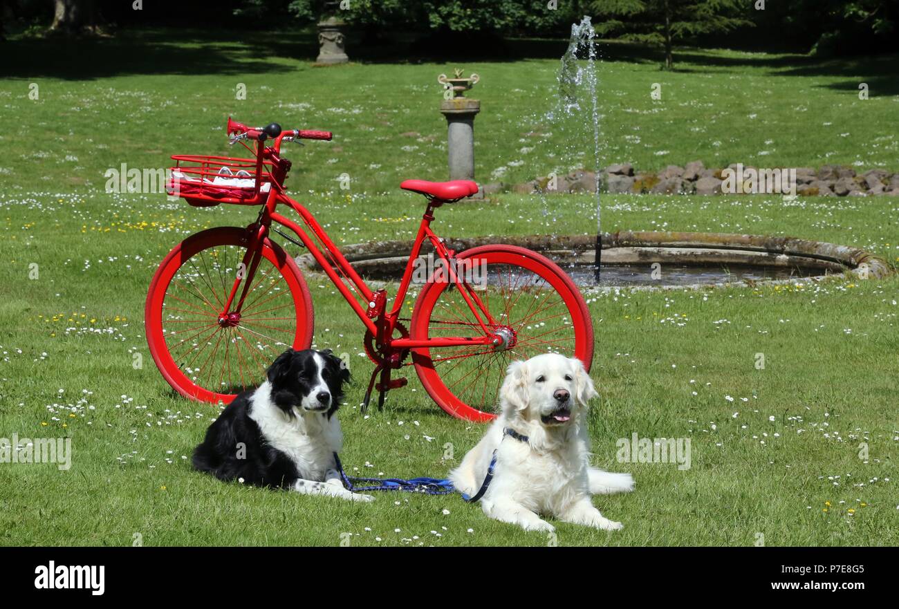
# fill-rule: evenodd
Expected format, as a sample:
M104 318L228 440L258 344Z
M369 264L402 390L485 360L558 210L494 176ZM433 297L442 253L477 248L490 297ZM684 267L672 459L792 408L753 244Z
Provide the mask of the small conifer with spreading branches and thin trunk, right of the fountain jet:
M595 0L592 9L610 17L597 24L598 33L663 48L668 69L674 66L675 41L752 26L738 16L748 9L742 0Z

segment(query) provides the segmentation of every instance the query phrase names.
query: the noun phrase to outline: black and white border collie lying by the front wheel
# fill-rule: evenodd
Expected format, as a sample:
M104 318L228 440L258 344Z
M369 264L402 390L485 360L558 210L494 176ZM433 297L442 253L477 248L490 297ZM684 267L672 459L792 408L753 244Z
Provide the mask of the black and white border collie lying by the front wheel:
M371 501L343 488L334 453L343 446L337 408L350 371L330 349L288 349L258 389L227 405L193 452L193 466L219 480L306 495Z

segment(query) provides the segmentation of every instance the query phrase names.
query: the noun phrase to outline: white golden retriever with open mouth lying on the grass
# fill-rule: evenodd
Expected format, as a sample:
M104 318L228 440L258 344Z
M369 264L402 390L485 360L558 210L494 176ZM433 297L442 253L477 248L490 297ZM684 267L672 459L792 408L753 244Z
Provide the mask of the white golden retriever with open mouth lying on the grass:
M602 516L591 502L593 494L634 489L630 474L602 472L588 463L586 409L597 395L578 359L546 353L512 362L500 389L502 413L449 480L471 498L483 490L487 516L527 530L554 530L539 515L620 529L621 523Z

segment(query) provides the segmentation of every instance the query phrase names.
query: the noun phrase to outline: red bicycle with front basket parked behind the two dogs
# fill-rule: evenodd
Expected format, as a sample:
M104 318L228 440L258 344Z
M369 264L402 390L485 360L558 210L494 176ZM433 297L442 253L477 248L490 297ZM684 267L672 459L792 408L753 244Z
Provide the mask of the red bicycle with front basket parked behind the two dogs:
M159 265L147 294L150 353L182 395L230 402L263 381L265 369L283 349L311 344L313 310L306 280L271 233L307 248L362 322L364 349L375 364L363 410L373 388L380 408L387 390L405 385L405 378L391 379L392 371L405 366L414 366L443 410L474 421L494 418L490 410L512 358L554 351L578 357L590 368L592 322L565 271L513 245L453 252L432 231L434 210L475 194L474 181L400 184L423 194L427 207L388 305L386 291L366 285L316 218L284 188L290 162L280 155L281 143L330 140L332 134L282 130L275 123L250 128L231 119L227 133L232 144L240 143L254 157L175 154L167 190L197 207L262 206L259 216L245 228L219 226L184 239ZM305 227L282 216L279 205L293 209ZM428 275L407 319L400 314L426 243L437 257L432 260L441 260L440 268Z

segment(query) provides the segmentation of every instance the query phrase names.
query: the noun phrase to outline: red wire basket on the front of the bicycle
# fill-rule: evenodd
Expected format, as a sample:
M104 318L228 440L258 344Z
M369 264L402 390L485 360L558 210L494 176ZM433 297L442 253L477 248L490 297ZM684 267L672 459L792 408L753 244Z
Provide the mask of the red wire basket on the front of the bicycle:
M219 203L261 205L277 182L271 177L271 162L205 154L173 154L176 162L165 185L170 195L182 197L194 207Z

